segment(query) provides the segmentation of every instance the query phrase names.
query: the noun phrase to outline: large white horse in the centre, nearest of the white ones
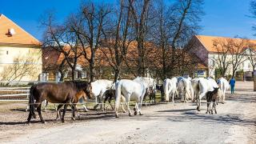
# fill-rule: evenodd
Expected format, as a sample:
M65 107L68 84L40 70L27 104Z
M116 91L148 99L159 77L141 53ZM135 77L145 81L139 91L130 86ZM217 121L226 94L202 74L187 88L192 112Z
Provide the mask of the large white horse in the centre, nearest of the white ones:
M120 99L121 95L126 98L126 104L127 104L127 110L129 113L129 116L131 116L130 111L130 98L135 98L136 102L135 108L134 108L134 115L140 114L142 115L141 109L142 109L142 102L143 97L146 93L146 88L148 87L147 83L143 81L142 78L138 77L134 80L130 79L122 79L119 82L116 83L115 86L115 116L118 118L118 108L120 106Z

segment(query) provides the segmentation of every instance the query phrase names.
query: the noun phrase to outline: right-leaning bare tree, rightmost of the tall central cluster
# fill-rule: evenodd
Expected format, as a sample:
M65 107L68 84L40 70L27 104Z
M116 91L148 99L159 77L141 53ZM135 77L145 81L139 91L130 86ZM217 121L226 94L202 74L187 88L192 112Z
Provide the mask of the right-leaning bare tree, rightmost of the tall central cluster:
M181 56L177 55L175 50L185 46L188 39L200 29L198 22L201 21L200 16L203 14L202 3L202 0L180 0L170 6L171 57L169 67L177 66L175 60ZM173 70L170 69L170 74L174 74Z

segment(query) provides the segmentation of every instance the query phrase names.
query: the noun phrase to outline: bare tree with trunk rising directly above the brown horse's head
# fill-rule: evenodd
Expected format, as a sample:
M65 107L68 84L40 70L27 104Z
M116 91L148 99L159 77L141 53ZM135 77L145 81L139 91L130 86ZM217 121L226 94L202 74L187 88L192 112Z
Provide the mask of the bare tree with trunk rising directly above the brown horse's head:
M95 78L95 54L103 40L106 16L110 8L104 4L84 2L74 17L72 30L77 35L84 58L90 63L90 82Z

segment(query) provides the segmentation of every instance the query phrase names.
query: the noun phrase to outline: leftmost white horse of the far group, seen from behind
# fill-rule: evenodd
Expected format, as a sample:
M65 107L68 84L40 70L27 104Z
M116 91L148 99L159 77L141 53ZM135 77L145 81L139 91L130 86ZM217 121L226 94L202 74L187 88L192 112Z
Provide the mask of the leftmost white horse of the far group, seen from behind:
M169 97L172 97L172 102L174 102L174 96L177 93L177 78L166 78L163 82L163 90L166 96L166 102L169 102Z

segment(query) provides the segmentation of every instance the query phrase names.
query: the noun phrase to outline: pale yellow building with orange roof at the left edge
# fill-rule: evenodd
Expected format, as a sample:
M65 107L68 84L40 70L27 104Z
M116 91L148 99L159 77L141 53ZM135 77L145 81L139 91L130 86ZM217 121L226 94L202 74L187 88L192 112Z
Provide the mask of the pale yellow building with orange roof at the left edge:
M41 73L38 39L0 14L0 81L37 81Z

